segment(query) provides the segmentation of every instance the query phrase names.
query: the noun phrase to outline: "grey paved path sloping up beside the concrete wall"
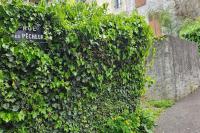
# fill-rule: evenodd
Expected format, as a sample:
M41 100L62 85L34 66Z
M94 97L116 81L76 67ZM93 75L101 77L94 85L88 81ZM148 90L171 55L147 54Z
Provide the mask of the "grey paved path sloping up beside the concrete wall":
M200 90L164 112L155 133L200 133Z

